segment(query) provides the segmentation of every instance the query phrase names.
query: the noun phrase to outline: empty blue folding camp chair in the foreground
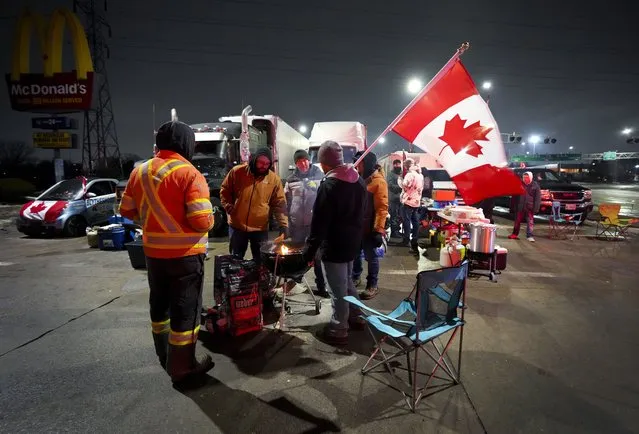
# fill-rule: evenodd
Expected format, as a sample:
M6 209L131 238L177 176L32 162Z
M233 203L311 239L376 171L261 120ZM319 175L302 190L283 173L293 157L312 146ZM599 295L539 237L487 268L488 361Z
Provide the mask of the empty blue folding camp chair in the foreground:
M398 383L401 380L395 375L390 362L405 356L408 385L412 390L408 393L402 390L402 387L398 387L398 390L402 392L413 412L439 368L451 378L454 384L461 382L467 275L468 261L464 261L458 267L422 271L417 274L417 282L408 297L389 314L380 313L366 306L356 297L344 297L344 300L361 309L368 330L375 341L375 349L362 368L362 374L365 375L383 364L393 377L393 381ZM458 332L459 354L455 368L446 353ZM448 333L450 337L440 349L436 340ZM381 335L379 340L377 335ZM384 351L382 347L384 344L391 344L395 352L389 352L388 349ZM431 345L435 352L427 348ZM426 374L428 376L426 384L418 390L420 350L435 362L435 366L430 374ZM414 353L412 366L411 353Z

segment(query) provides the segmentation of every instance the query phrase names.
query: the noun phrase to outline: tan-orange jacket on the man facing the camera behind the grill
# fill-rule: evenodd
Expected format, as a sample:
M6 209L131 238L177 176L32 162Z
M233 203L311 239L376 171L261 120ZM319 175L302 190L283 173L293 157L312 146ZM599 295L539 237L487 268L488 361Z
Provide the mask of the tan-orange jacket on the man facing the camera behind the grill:
M234 229L266 231L271 211L281 227L288 227L284 187L272 170L256 178L248 164L233 167L222 181L220 200Z

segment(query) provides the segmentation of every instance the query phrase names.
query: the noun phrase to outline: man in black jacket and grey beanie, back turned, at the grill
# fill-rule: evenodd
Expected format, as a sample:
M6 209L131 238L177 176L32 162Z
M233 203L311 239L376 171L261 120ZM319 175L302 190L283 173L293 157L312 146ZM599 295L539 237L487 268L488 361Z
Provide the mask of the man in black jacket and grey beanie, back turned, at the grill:
M318 159L326 176L317 190L305 258L313 262L320 250L333 304L331 321L323 337L329 343L342 345L348 340L349 323L355 327L362 325L359 311L352 309L344 297L357 297L351 276L353 259L361 249L366 184L357 170L344 164L344 153L338 143L322 143Z

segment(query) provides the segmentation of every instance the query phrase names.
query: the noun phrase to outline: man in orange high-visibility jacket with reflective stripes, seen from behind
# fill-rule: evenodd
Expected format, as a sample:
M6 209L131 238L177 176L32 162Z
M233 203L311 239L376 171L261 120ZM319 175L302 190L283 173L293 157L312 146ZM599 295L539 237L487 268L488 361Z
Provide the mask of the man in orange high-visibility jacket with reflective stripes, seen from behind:
M175 383L214 365L208 355L195 359L213 210L206 180L189 162L195 149L191 127L167 122L155 141L154 158L131 172L120 214L142 224L153 342Z

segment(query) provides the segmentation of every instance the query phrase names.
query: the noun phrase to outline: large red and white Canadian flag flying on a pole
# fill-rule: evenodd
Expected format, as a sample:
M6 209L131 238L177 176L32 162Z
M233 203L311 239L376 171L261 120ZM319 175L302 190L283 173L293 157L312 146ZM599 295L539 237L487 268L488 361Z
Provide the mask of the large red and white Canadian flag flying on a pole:
M433 155L467 204L524 193L507 167L497 123L460 60L429 84L393 131Z

